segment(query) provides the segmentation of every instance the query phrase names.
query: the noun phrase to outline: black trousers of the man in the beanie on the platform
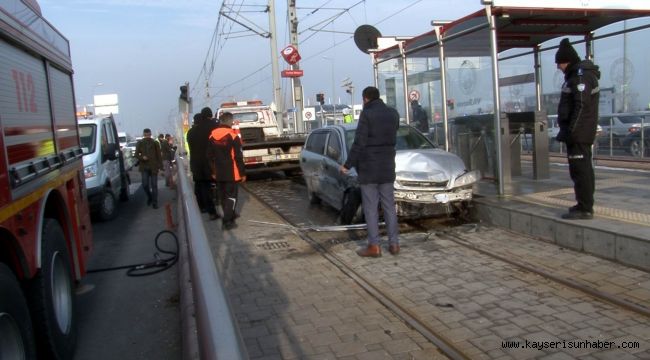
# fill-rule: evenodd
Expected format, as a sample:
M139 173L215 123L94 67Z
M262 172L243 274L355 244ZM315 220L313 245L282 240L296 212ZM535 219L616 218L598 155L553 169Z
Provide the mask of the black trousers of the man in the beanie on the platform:
M578 210L593 213L596 175L591 144L567 144L567 159Z

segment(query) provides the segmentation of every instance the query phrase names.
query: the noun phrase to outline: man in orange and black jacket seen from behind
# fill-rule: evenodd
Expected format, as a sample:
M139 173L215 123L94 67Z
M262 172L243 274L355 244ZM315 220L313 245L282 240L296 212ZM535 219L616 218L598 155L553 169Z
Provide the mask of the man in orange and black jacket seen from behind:
M223 113L219 117L219 126L210 133L207 149L212 180L217 184L223 207L225 230L237 227L237 183L246 181L241 137L237 136L232 124L232 113Z

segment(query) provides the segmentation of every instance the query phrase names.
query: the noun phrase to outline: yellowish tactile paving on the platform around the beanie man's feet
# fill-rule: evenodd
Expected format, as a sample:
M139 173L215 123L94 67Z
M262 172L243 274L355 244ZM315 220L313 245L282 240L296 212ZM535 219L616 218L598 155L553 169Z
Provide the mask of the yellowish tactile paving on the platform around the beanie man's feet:
M633 180L642 180L642 179L647 179L647 178L643 176L624 176L624 177L617 177L617 178L611 178L605 180L598 180L596 181L596 189L604 189L609 187L637 188L639 186L638 184L630 184L627 182ZM558 199L557 196L567 195L572 193L573 193L573 188L561 188L561 189L556 189L551 191L514 196L513 198L528 203L568 208L574 205L574 201ZM601 217L610 218L614 220L626 221L637 225L650 226L650 214L646 214L646 213L639 213L635 211L622 210L613 207L596 205L594 206L594 214L596 216L601 216Z

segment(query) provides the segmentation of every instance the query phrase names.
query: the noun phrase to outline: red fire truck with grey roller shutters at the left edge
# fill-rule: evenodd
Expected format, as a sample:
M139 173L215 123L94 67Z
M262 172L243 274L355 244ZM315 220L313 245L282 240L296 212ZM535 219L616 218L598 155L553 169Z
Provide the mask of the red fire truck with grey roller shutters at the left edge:
M68 40L0 2L0 359L71 359L91 250Z

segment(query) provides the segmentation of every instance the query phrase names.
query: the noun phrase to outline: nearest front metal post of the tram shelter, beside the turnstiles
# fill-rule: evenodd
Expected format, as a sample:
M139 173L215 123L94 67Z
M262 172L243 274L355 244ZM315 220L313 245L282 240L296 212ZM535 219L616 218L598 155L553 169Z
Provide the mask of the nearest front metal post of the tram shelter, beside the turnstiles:
M505 195L505 179L503 171L503 149L501 149L501 96L499 94L499 60L497 53L496 17L492 15L491 5L485 6L488 21L490 22L490 48L492 52L492 85L494 91L494 140L496 143L497 179L499 181L499 195Z

